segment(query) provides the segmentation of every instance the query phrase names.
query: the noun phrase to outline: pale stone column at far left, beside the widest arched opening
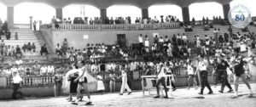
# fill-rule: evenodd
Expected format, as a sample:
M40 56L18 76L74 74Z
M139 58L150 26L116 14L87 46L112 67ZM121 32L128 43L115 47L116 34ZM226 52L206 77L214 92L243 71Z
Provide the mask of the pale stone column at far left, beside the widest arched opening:
M10 27L14 25L15 20L15 8L7 7L7 22Z

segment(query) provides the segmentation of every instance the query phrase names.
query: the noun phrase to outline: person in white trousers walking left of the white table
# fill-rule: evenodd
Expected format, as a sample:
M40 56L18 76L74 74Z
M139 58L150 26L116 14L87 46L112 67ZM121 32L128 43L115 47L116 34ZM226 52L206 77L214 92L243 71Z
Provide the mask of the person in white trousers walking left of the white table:
M127 73L125 71L125 65L122 65L122 86L119 95L123 95L125 89L128 91L128 95L131 94L131 89L127 84Z

